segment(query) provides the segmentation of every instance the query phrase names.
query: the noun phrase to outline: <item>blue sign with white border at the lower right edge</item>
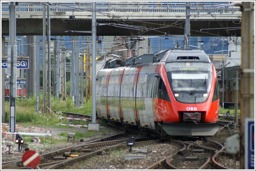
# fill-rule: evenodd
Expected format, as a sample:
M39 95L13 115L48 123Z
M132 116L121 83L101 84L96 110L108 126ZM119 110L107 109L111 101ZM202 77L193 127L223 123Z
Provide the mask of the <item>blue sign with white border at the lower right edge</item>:
M254 119L245 118L244 123L244 167L245 169L254 170L254 146L255 146L255 132L254 132Z

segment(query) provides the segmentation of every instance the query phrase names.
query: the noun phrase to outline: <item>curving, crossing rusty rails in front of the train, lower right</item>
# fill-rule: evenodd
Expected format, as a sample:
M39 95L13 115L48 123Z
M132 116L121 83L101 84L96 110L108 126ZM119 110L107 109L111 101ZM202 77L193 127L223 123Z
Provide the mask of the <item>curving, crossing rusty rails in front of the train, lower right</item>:
M204 141L178 141L181 149L165 157L146 169L232 169L223 166L219 161L221 156L230 153L224 152L225 146L218 142Z

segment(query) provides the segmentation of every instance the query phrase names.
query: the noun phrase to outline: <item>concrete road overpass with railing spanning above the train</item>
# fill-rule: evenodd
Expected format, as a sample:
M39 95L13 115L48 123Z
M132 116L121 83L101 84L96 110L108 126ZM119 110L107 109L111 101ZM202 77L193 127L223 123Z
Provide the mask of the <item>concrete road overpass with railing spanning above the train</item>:
M190 5L191 36L241 36L240 7L205 2ZM91 2L54 2L50 8L51 35L91 35ZM43 3L19 2L16 35L43 35L42 11ZM97 2L96 11L97 35L184 35L186 2ZM1 19L2 35L9 35L7 2L2 2Z

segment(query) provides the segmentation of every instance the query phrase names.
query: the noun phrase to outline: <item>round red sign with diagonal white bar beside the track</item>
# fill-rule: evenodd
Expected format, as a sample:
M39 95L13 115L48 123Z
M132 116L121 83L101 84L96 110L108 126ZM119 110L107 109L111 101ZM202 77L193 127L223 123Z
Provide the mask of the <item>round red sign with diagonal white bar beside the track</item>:
M26 151L22 156L22 163L25 167L35 168L40 163L40 155L34 150Z

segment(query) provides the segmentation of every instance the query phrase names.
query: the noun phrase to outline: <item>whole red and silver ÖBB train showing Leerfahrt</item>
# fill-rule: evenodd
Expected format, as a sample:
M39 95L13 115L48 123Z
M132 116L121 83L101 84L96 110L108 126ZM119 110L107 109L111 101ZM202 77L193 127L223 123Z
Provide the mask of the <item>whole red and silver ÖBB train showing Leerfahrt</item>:
M150 63L134 58L135 65L103 66L96 79L97 117L161 135L214 135L219 128L214 65L202 50L165 52Z

